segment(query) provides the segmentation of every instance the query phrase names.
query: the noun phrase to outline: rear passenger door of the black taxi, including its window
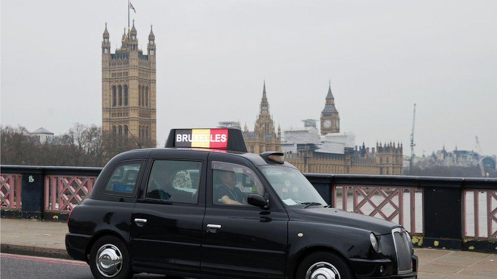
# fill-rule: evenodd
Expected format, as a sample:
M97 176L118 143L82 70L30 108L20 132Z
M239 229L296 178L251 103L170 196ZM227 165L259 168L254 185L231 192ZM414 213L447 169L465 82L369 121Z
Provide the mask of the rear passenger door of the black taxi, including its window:
M150 155L131 216L134 267L200 272L207 154L166 149Z

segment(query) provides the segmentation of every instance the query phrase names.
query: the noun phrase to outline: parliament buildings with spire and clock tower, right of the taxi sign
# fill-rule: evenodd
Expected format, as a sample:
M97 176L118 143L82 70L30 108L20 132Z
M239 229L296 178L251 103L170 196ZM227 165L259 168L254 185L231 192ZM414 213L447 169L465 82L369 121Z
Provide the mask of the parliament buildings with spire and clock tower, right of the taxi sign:
M316 120L303 120L304 127L281 131L275 129L269 112L269 102L264 82L254 131L243 127L243 136L250 152L283 151L285 161L301 172L402 174L402 144L376 143L375 147L355 144L355 136L340 133L340 116L335 107L331 83L320 113L320 131ZM222 122L222 126L239 127L237 122Z

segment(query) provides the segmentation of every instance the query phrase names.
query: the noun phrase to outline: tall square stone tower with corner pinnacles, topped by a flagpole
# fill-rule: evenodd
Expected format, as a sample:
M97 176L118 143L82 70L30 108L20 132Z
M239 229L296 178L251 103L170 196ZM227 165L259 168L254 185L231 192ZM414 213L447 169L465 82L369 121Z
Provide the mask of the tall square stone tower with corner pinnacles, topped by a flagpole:
M138 48L136 28L124 30L121 48L111 53L107 24L102 41L102 132L127 140L128 130L156 145L155 36L150 27L147 53Z

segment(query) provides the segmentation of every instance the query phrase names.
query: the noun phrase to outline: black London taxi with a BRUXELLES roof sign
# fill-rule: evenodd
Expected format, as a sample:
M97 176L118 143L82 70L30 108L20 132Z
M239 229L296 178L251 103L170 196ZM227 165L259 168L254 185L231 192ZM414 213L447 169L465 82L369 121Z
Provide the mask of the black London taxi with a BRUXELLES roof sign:
M238 129L173 129L165 148L119 154L68 226L68 254L96 278L417 277L404 228L331 208Z

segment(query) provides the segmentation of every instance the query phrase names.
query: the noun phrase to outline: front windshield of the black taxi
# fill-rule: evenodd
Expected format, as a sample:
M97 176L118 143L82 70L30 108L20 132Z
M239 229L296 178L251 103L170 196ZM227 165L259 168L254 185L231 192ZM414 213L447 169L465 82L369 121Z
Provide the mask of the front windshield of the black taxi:
M301 172L283 166L259 167L272 188L289 207L328 205Z

